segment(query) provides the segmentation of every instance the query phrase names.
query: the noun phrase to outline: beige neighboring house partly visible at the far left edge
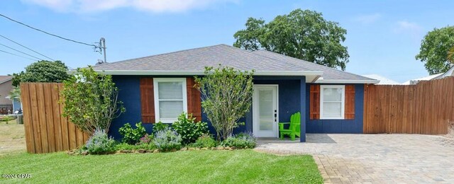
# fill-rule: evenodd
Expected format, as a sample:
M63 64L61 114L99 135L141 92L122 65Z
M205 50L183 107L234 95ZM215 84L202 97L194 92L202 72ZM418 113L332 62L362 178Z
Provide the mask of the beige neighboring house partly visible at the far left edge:
M13 102L6 98L11 89L13 89L13 76L0 76L0 115L13 112Z

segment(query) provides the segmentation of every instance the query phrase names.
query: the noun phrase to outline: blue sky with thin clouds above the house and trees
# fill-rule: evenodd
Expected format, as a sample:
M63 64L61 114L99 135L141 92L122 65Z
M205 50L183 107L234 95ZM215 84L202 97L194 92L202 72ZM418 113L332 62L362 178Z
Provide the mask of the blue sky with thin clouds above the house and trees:
M0 13L48 33L94 44L106 39L107 62L195 47L233 45L249 17L272 21L296 8L323 13L347 30L346 71L404 82L428 76L415 59L424 35L453 25L454 1L2 0ZM0 35L71 68L103 59L93 47L55 38L0 17ZM39 54L0 37L0 44ZM28 55L0 45L0 75L23 71Z

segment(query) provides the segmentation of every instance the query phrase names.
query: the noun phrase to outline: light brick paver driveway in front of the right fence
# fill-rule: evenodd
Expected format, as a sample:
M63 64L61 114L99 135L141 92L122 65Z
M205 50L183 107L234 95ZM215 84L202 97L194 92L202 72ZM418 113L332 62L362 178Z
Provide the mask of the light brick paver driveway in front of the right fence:
M326 183L454 183L454 145L443 140L421 134L307 134L306 143L262 140L256 150L311 154Z

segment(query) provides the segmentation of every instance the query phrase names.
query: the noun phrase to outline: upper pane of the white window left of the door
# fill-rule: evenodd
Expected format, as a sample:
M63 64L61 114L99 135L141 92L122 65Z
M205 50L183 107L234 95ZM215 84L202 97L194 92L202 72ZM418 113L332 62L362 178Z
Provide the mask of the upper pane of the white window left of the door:
M183 83L182 82L158 82L157 90L160 100L175 100L183 99ZM179 112L181 113L181 112Z

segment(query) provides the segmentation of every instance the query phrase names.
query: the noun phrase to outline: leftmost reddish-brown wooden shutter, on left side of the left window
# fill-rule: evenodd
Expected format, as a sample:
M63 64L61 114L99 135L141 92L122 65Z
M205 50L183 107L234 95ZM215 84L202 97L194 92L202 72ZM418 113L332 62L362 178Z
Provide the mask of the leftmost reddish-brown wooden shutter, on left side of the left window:
M140 105L142 109L142 122L155 123L155 91L153 78L140 79Z

